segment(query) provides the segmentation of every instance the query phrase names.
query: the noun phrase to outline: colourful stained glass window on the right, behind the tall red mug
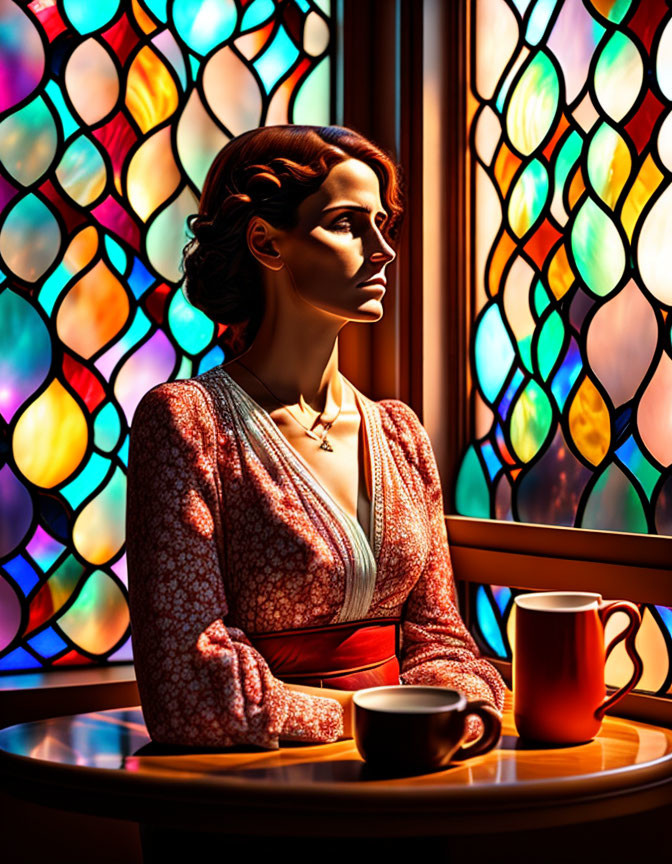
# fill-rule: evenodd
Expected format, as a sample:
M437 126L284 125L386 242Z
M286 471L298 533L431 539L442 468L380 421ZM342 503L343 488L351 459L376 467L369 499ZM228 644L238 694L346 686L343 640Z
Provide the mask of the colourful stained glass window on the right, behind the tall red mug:
M473 0L470 15L473 438L457 512L672 534L672 10ZM512 602L477 590L496 656ZM670 691L671 634L672 612L647 607L640 689ZM610 683L628 662L614 652Z

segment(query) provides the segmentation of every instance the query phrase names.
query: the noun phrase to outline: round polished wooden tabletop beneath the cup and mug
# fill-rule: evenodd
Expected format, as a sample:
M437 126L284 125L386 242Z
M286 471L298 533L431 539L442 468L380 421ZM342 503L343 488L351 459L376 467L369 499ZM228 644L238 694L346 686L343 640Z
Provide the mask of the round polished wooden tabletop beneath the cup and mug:
M268 835L404 836L590 821L672 802L672 730L607 717L579 746L502 738L433 773L381 776L354 741L275 751L152 744L138 707L0 730L0 773L38 803L153 825ZM532 823L531 823L532 820ZM487 826L487 827L486 827Z

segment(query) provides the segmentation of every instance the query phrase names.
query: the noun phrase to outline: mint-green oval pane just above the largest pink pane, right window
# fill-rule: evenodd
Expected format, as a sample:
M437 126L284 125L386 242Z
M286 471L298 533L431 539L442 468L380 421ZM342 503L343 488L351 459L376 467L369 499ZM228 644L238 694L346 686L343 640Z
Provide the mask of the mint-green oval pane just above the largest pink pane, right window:
M590 198L572 226L572 252L593 294L604 297L614 290L625 270L625 249L612 220Z

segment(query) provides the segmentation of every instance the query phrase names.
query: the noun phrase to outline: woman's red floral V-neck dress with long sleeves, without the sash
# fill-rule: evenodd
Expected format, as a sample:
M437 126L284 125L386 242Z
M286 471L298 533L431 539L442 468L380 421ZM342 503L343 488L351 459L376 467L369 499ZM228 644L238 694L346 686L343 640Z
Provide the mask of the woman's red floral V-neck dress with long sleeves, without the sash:
M368 536L222 367L142 399L126 530L135 667L155 741L336 740L340 704L290 690L246 634L362 619L401 618L402 683L502 710L504 684L456 607L427 432L403 402L355 393L372 470Z

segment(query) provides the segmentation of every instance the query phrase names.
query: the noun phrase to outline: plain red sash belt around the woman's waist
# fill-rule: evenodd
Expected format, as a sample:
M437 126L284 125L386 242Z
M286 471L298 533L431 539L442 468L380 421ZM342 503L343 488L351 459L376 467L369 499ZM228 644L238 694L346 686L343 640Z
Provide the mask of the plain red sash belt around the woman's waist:
M248 636L281 681L360 690L399 683L398 627L376 618Z

